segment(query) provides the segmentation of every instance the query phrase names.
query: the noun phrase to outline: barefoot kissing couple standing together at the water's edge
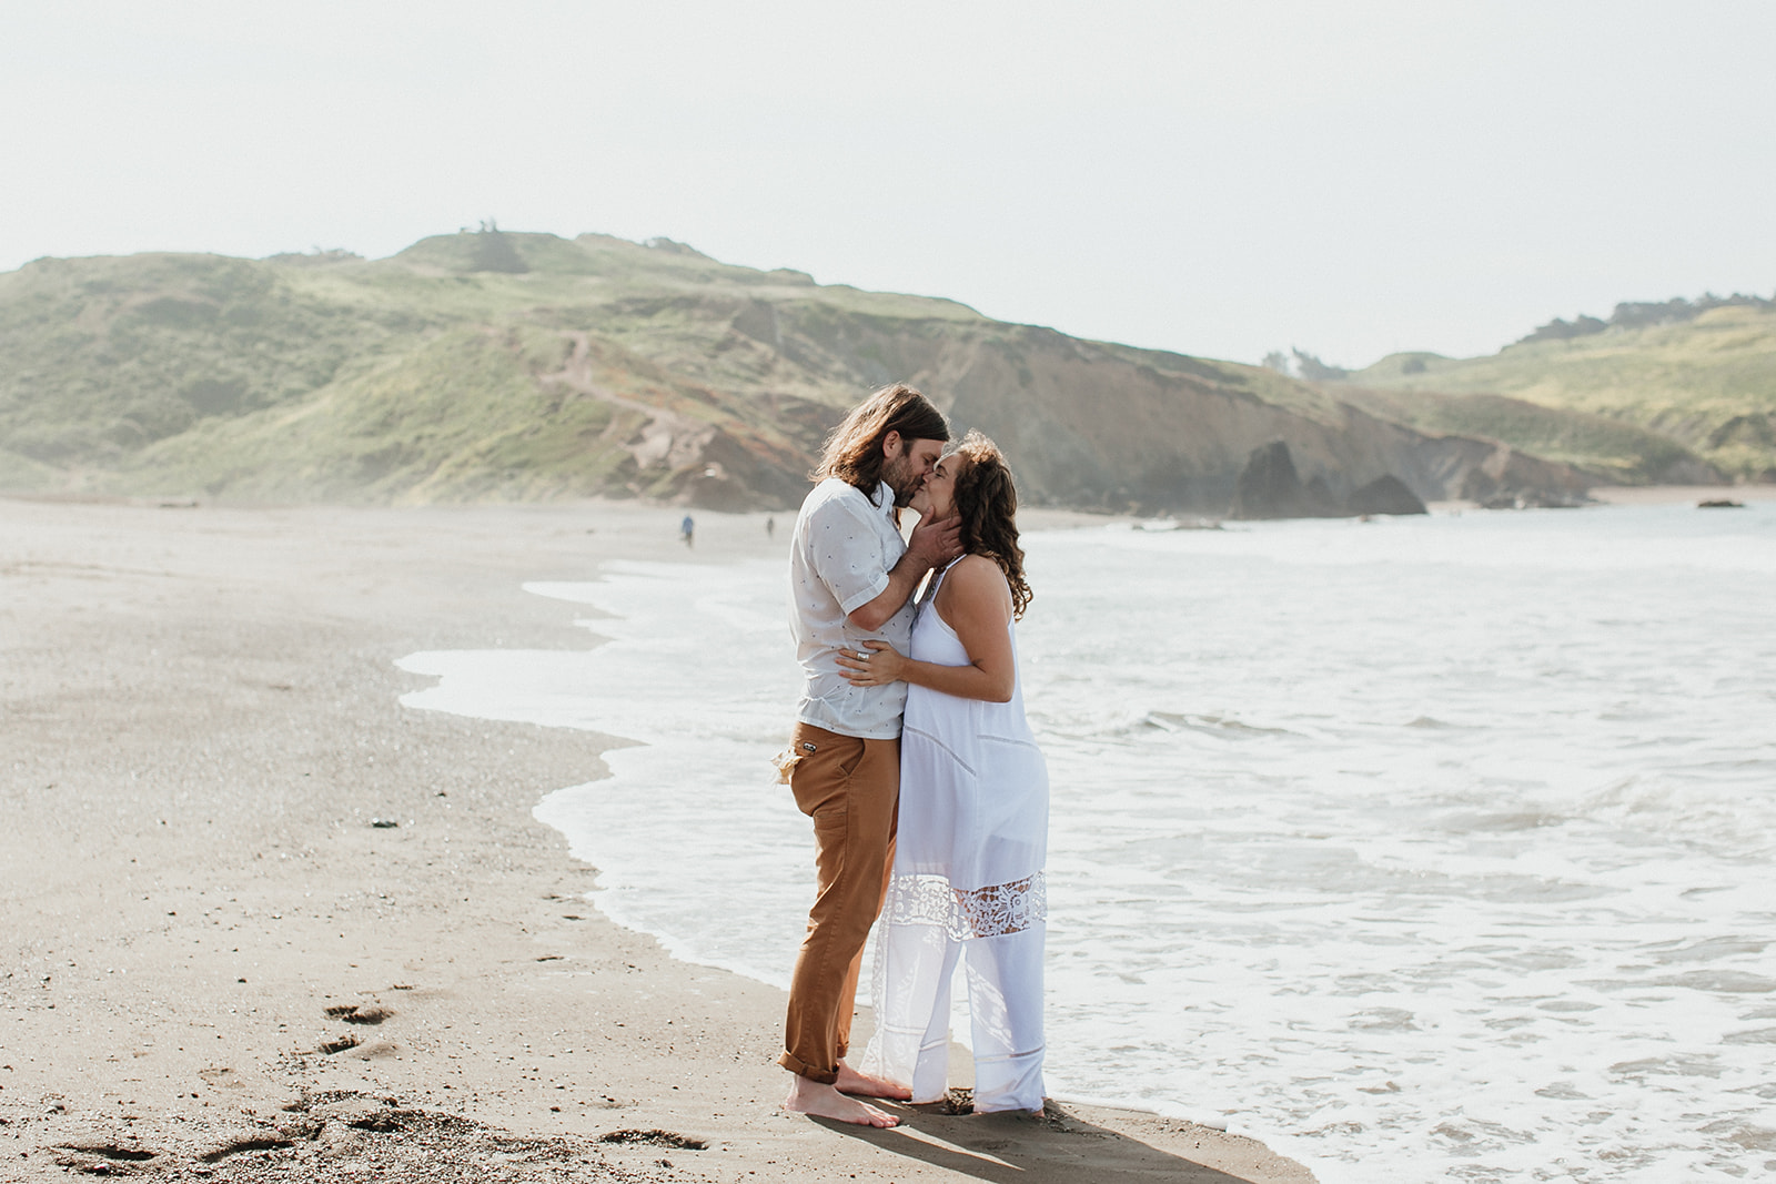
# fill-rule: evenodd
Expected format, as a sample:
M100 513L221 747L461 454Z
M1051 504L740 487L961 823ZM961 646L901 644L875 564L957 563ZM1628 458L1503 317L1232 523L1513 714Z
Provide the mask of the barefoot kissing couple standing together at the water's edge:
M892 1127L861 1099L941 1101L963 964L975 1109L1039 1111L1048 767L1018 676L1030 586L1011 469L977 431L950 446L943 414L899 383L845 417L813 478L790 541L806 683L778 763L813 820L819 889L790 980L783 1106ZM902 509L918 515L908 538ZM876 1033L851 1067L877 916Z

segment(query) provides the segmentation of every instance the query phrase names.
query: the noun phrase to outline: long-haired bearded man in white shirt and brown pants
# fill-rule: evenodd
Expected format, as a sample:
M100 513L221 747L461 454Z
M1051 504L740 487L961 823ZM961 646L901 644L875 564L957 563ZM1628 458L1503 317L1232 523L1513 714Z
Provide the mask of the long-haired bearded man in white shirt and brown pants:
M943 414L913 387L872 394L828 438L790 545L790 630L806 687L783 772L813 818L819 895L796 955L778 1063L796 1074L785 1109L860 1125L897 1120L851 1095L911 1097L844 1060L863 943L893 864L906 683L852 687L835 659L867 653L868 639L906 653L913 591L961 554L955 522L920 522L909 541L897 524L948 438Z

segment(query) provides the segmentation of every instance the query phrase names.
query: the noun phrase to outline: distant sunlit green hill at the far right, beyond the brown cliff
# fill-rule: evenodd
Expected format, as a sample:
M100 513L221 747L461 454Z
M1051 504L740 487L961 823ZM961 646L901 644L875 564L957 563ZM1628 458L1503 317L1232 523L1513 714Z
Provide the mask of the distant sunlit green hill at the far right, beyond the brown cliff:
M1394 353L1328 389L1405 422L1485 431L1630 483L1691 479L1687 458L1776 481L1776 311L1728 305L1588 328L1492 357Z

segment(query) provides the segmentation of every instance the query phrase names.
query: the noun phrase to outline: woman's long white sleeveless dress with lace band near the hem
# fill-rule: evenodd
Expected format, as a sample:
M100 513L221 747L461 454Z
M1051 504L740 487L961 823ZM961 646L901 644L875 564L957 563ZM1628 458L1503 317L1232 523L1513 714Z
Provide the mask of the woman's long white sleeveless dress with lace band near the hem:
M909 657L966 666L968 651L938 616L941 580L920 605ZM1007 628L1016 655L1018 632ZM961 960L975 1109L1043 1108L1046 859L1048 765L1023 715L1021 673L1009 703L909 687L900 825L876 934L876 1035L865 1072L911 1085L915 1102L943 1099L950 978Z

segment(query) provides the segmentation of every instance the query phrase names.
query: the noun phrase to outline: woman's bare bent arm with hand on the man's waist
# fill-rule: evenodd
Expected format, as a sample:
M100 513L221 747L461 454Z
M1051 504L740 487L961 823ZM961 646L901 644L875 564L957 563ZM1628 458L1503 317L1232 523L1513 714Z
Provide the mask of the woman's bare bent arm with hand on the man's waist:
M959 699L1005 703L1016 687L1016 655L1011 646L1011 588L998 564L982 556L966 556L938 589L938 612L955 630L968 653L968 666L915 662L884 641L865 641L868 660L840 655L838 664L858 687L909 682Z

